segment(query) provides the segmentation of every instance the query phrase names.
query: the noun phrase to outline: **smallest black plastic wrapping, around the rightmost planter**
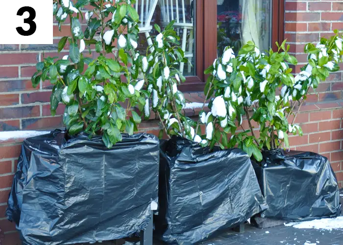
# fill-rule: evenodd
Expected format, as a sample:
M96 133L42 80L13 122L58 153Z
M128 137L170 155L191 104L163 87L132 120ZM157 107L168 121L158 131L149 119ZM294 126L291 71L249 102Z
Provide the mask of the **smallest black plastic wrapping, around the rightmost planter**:
M340 215L338 183L326 157L279 149L264 151L253 166L269 206L261 217L308 221Z

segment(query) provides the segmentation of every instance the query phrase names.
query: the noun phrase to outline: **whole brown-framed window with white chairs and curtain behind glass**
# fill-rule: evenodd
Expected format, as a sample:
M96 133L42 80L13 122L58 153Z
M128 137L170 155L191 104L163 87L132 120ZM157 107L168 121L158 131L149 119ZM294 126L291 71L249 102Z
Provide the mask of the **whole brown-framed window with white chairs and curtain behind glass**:
M175 20L180 45L188 58L180 70L186 82L182 91L202 91L209 67L226 46L237 51L243 42L254 41L261 50L282 42L284 0L137 0L141 18L140 47L145 51L147 35L157 35L152 26L161 28ZM145 15L141 15L141 13ZM142 50L142 51L143 51Z

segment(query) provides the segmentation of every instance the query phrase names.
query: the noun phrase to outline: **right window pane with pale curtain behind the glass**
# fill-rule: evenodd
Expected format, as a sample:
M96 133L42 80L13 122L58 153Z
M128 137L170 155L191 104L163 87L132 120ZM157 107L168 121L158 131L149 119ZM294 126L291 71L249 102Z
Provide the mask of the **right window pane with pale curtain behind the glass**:
M218 55L226 46L237 52L247 41L270 47L271 0L218 0Z

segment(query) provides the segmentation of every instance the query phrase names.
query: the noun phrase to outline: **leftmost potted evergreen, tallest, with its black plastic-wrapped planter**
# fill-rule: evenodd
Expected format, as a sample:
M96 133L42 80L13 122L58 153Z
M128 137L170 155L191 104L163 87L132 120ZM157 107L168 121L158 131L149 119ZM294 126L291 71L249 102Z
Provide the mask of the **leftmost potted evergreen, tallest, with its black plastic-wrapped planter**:
M148 92L139 79L146 58L136 50L139 18L131 3L53 2L59 27L71 30L58 51L68 44L69 55L44 57L32 83L53 84L51 114L65 105L66 131L23 143L6 214L28 244L119 239L152 222L159 141L133 134L141 122L135 108L143 110ZM81 9L88 9L84 18Z

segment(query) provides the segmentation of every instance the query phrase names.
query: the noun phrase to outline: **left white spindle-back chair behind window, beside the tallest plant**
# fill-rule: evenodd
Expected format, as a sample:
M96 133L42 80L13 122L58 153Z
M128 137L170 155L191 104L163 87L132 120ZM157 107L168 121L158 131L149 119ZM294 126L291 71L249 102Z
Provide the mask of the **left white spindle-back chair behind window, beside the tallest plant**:
M136 11L139 13L141 23L138 25L139 33L145 33L147 37L147 44L152 45L150 38L150 31L152 30L151 19L155 11L158 0L140 0L140 9L138 7L138 0L136 1Z

